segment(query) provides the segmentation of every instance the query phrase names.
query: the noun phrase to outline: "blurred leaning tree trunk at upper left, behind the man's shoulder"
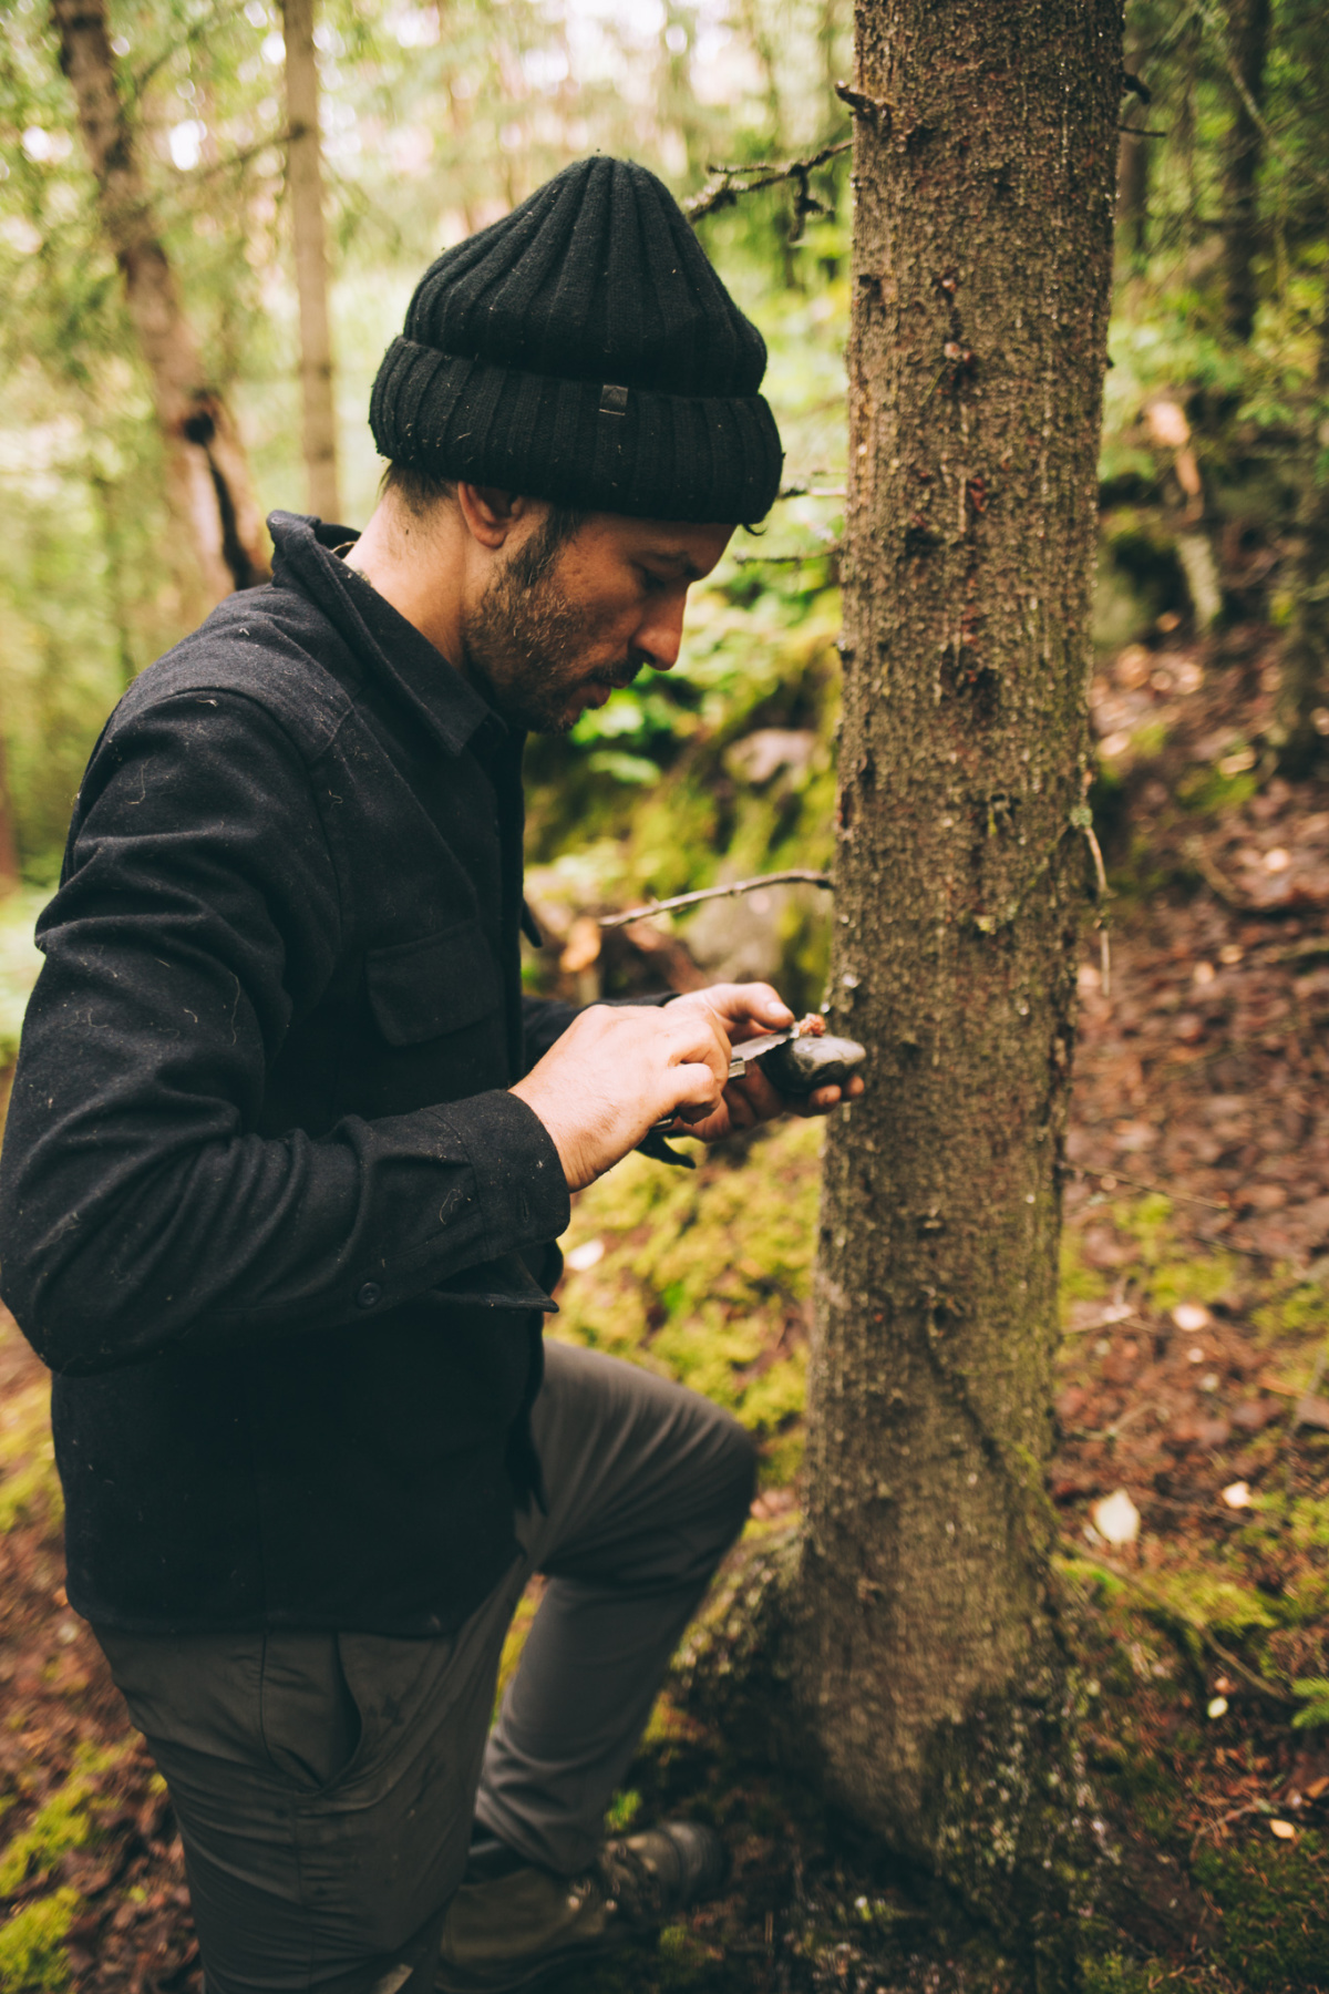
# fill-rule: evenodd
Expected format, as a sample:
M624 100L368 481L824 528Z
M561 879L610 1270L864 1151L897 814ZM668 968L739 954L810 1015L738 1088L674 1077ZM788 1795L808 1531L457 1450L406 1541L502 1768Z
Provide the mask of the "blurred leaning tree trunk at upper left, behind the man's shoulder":
M98 183L98 207L126 283L165 445L167 500L187 546L177 560L181 612L197 620L233 588L267 580L267 534L245 447L221 395L205 385L116 82L104 0L52 0L60 66ZM189 560L189 554L193 556Z

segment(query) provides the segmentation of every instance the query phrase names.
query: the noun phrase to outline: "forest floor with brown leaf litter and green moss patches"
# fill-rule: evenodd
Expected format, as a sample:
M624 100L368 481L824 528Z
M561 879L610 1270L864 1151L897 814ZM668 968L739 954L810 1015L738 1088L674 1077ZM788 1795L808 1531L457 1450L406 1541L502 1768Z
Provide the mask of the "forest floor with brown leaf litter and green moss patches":
M1329 788L1257 762L1267 644L1132 646L1094 686L1118 899L1110 985L1096 943L1080 975L1050 1488L1136 1908L1090 1994L1329 1990ZM815 1198L791 1125L695 1172L630 1159L566 1242L560 1334L761 1434L757 1531L797 1509ZM169 1803L68 1609L46 1380L8 1318L0 1400L0 1990L195 1994ZM588 1994L1016 1986L667 1697L612 1819L665 1809L721 1827L729 1890Z

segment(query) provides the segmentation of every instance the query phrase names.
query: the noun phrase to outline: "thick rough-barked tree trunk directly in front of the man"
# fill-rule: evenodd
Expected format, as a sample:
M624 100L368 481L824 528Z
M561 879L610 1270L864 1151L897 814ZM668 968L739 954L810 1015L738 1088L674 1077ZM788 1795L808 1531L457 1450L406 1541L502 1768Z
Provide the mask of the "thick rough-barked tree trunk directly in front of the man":
M1058 1984L1042 1470L1122 22L859 0L855 50L831 1027L871 1079L827 1139L799 1693L831 1793Z

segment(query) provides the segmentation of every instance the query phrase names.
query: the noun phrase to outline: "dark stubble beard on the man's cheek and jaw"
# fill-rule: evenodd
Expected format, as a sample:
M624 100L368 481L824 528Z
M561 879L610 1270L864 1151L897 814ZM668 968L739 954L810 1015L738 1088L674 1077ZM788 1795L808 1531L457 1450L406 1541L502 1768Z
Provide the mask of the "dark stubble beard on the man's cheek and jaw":
M594 650L594 614L558 586L558 546L540 534L494 576L462 626L466 672L494 712L528 734L570 734L586 700L578 690L592 678L630 684L642 660L632 656L586 672Z

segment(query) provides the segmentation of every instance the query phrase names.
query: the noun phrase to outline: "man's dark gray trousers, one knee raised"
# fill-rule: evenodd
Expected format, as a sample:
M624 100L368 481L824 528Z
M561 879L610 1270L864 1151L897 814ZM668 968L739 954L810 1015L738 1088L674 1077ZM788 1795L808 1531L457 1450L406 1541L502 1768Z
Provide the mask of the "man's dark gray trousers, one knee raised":
M207 1994L430 1994L472 1819L584 1868L669 1655L753 1492L749 1436L695 1392L548 1344L548 1515L456 1635L98 1627L171 1791ZM548 1575L490 1733L508 1623Z

